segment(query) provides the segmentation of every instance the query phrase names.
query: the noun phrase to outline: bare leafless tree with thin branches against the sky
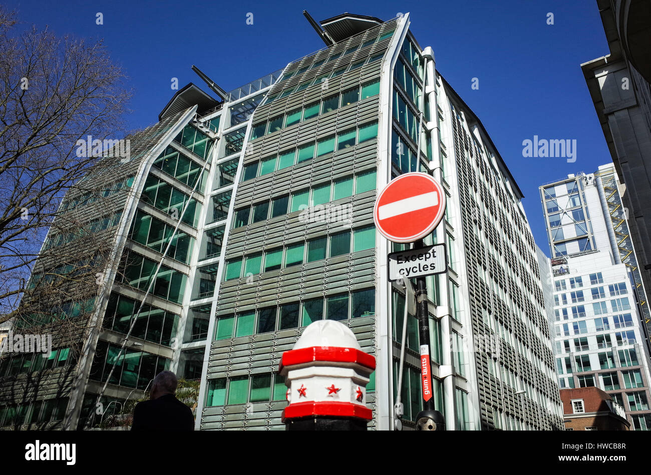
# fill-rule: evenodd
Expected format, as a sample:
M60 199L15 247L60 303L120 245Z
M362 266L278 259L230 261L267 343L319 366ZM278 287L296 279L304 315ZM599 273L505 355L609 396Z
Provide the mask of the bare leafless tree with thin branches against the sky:
M27 318L18 311L26 294L49 309L56 309L56 300L63 311L65 305L77 305L70 302L71 287L62 279L77 279L88 287L83 291L74 287L79 302L97 290L97 256L107 252L109 243L99 242L101 233L98 237L92 232L96 229L88 229L97 225L89 220L88 211L63 216L59 205L73 186L76 191L69 195L77 201L105 195L105 189L81 180L105 150L80 146L78 141L105 144L106 139L124 136L122 114L130 97L122 71L101 41L58 38L47 28L36 27L14 34L16 23L14 12L0 6L0 323ZM97 218L102 217L99 207ZM72 236L77 239L92 236L94 241L77 250L94 251L61 255L59 244L50 243L44 254L51 253L51 259L42 255L39 277L28 286L48 230L52 239L70 238L70 233L77 233ZM61 265L70 267L62 273ZM29 318L38 318L38 309L26 312Z

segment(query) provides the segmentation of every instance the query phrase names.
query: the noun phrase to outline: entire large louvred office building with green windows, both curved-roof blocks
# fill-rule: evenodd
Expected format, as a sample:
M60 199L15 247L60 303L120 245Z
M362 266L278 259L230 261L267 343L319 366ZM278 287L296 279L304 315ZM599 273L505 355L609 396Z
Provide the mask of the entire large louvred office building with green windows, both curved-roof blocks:
M363 395L370 427L393 430L400 392L402 426L414 428L418 324L408 315L398 390L405 289L389 282L386 257L406 246L375 232L372 209L393 177L424 171L448 203L424 240L445 243L449 261L447 274L426 278L447 428L562 428L536 248L484 127L436 74L408 14L309 20L324 49L230 93L199 71L220 100L189 84L133 137L137 160L116 168L124 198L101 201L115 209L113 247L94 305L83 307L94 324L79 337L81 356L0 366L12 381L68 368L64 402L55 416L41 409L55 385L23 400L7 392L0 425L98 426L171 368L201 379L197 428L282 430L281 354L331 318L376 357ZM63 209L83 210L81 198L68 193Z

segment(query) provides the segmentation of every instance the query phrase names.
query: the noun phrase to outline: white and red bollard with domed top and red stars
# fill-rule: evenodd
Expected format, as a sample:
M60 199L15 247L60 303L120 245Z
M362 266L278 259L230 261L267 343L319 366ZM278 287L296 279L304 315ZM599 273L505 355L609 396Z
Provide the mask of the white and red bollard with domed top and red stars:
M366 386L374 370L375 357L361 350L350 328L335 320L310 324L280 363L286 430L367 430Z

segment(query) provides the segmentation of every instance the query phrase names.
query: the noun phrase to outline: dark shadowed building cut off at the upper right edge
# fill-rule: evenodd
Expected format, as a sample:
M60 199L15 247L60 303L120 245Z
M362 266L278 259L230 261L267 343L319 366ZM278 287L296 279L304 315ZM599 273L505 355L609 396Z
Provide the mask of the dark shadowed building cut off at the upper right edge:
M581 64L602 125L640 276L651 289L651 4L597 0L610 54ZM651 315L644 309L646 326Z

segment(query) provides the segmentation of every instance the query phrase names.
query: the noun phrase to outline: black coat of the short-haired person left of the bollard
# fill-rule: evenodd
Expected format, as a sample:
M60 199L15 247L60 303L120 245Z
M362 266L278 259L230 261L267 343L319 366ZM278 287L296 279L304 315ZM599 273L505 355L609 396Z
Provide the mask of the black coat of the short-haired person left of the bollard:
M164 394L154 400L139 402L135 405L131 430L195 430L195 418L191 409L176 399L174 394Z

